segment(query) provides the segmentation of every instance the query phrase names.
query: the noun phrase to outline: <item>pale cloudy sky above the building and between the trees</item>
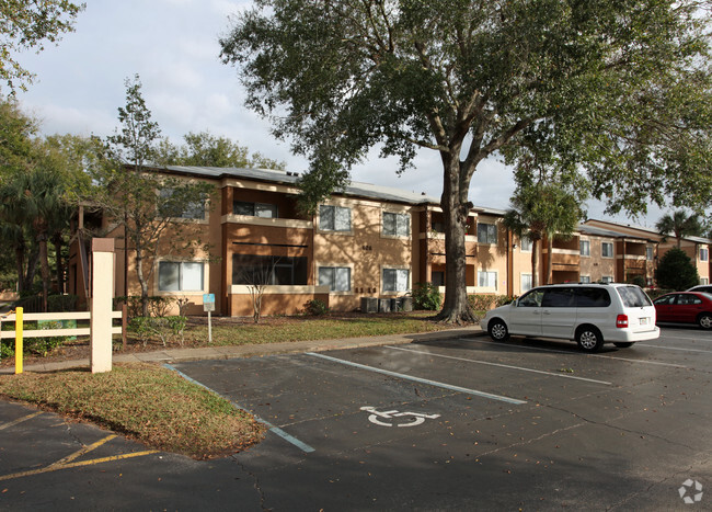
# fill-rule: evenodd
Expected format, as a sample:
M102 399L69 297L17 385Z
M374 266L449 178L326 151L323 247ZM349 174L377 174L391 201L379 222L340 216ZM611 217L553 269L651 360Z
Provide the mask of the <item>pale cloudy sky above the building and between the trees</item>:
M220 61L218 38L229 16L249 1L229 0L84 0L76 32L39 54L23 53L21 64L35 73L27 92L18 91L25 112L37 117L45 135L112 135L117 109L125 104L125 80L139 75L142 95L163 136L182 143L190 132L208 130L250 151L303 172L307 161L292 155L288 141L275 139L269 123L244 106L238 71ZM354 181L394 186L439 197L443 168L435 151L423 150L414 169L398 175L394 159L374 149L352 172ZM514 191L512 169L496 159L481 163L472 179L470 201L506 209ZM589 218L607 218L653 227L665 213L652 206L645 217L607 216L590 201Z

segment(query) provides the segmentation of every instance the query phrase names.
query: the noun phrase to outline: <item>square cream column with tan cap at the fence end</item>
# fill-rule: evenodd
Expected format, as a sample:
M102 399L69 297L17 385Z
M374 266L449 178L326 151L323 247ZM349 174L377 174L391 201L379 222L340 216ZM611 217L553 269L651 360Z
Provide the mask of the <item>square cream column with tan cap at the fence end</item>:
M91 371L112 371L112 299L114 295L114 239L92 240L92 296L89 310Z

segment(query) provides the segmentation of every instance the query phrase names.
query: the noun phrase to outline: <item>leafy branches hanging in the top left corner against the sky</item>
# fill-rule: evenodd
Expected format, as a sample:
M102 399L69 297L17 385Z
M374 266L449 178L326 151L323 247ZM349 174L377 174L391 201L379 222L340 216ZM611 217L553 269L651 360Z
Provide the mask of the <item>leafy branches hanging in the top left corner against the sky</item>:
M64 32L73 32L77 14L84 3L69 0L0 2L0 80L11 91L23 91L33 75L23 68L15 55L26 49L44 49L46 43L57 43Z

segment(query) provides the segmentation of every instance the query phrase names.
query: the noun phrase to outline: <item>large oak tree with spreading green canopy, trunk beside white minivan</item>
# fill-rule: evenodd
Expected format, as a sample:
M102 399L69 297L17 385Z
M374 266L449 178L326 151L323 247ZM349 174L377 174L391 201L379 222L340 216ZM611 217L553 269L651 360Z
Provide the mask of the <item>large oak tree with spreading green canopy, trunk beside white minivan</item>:
M464 228L478 166L528 132L581 162L611 209L710 204L705 1L259 0L221 39L246 104L308 156L308 205L380 146L443 162L447 294L474 319Z

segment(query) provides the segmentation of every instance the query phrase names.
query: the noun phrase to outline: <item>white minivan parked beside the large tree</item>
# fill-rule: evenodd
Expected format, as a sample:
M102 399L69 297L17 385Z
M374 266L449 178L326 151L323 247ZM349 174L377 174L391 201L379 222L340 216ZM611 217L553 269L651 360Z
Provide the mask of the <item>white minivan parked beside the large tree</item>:
M486 312L480 325L495 341L514 335L576 340L585 352L655 340L655 307L632 284L556 284L530 289Z

